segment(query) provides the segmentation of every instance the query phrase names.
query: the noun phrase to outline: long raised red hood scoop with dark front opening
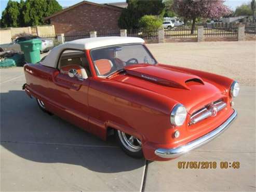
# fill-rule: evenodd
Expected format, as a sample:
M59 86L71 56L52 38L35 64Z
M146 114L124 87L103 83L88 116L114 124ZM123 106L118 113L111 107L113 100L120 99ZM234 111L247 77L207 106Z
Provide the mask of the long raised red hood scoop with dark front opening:
M127 75L138 77L163 86L191 90L191 82L204 85L204 81L192 74L172 70L158 65L133 65L125 67Z

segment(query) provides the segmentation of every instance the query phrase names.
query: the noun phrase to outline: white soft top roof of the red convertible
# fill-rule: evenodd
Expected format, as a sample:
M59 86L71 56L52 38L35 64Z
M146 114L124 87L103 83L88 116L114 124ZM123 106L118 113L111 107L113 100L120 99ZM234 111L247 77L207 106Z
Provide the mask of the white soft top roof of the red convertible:
M57 62L60 53L64 49L78 49L78 50L89 50L99 47L120 45L120 44L132 44L132 43L145 43L142 38L138 37L93 37L85 39L72 40L64 44L58 45L53 48L48 56L41 62L42 65L57 67Z

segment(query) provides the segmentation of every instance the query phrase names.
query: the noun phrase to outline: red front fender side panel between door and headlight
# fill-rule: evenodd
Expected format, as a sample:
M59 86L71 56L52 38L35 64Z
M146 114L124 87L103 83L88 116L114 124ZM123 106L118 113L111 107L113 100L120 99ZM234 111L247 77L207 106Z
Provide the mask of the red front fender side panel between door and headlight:
M110 79L94 78L88 95L89 125L92 131L115 128L137 136L142 142L154 142L162 129L170 127L173 104L166 102L175 101Z

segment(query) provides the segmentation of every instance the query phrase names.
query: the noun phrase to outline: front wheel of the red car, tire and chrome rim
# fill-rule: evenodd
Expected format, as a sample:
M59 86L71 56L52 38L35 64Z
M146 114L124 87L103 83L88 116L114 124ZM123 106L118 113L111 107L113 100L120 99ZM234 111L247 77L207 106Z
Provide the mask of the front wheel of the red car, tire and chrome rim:
M138 138L119 130L115 131L115 136L120 147L127 155L133 158L143 157L141 141Z

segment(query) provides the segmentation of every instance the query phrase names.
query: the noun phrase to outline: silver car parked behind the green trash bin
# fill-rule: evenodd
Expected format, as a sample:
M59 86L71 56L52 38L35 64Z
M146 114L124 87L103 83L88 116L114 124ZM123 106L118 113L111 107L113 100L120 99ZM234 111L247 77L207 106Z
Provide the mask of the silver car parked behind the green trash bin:
M25 40L30 40L35 38L42 40L41 52L47 52L50 49L52 49L54 46L52 39L42 38L38 36L22 36L22 37L16 38L10 44L0 45L0 51L21 51L19 42L23 42Z

